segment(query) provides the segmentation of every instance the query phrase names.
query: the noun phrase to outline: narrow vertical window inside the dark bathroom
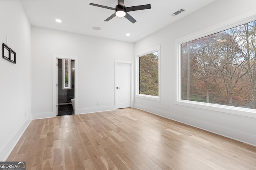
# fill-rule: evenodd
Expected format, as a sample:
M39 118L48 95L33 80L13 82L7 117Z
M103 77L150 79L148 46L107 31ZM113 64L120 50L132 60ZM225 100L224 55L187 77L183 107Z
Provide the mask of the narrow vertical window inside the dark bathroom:
M62 89L71 88L71 60L62 59Z

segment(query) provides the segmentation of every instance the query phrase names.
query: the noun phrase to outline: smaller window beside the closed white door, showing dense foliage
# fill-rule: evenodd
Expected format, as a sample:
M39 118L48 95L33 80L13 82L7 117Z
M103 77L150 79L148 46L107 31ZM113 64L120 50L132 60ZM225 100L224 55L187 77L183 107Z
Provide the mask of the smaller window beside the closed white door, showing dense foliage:
M139 97L159 99L159 53L157 48L137 56Z

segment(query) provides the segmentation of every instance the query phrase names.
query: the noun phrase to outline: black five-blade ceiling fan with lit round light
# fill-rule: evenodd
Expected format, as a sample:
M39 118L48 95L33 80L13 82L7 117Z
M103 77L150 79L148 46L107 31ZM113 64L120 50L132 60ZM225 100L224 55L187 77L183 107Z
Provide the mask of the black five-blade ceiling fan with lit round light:
M146 9L150 9L151 8L150 4L125 7L124 6L124 0L118 0L118 4L117 4L116 8L112 8L112 7L108 7L108 6L103 6L103 5L98 5L98 4L93 4L93 3L90 3L90 5L98 6L98 7L101 7L101 8L106 8L106 9L110 9L110 10L115 10L116 11L114 14L112 14L110 17L108 17L104 21L109 21L112 18L114 18L115 16L118 16L118 17L125 17L129 21L131 21L132 23L135 23L136 20L134 18L132 18L132 16L130 16L130 14L128 14L127 12L137 11L137 10L146 10Z

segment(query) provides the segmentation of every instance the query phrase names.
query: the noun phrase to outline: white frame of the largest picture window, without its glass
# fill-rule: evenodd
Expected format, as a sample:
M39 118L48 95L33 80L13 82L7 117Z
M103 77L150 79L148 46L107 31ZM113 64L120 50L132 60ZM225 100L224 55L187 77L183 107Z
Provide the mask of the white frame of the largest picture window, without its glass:
M200 109L208 109L212 111L219 111L224 113L230 113L234 115L242 115L246 117L253 117L256 118L256 110L255 109L248 109L243 107L235 107L235 106L225 106L225 105L219 105L219 104L210 104L210 103L204 103L204 102L195 102L195 101L189 101L189 100L182 100L182 43L186 43L189 41L193 41L198 38L202 38L214 33L218 33L220 31L224 31L226 29L230 29L232 27L236 27L238 25L242 25L251 21L256 20L256 15L250 16L247 18L242 19L232 19L228 20L222 23L219 23L217 25L214 25L212 27L208 27L206 29L202 29L200 31L196 31L195 33L185 35L184 37L180 37L178 39L175 39L175 100L174 103L182 106L188 106L188 107L196 107Z

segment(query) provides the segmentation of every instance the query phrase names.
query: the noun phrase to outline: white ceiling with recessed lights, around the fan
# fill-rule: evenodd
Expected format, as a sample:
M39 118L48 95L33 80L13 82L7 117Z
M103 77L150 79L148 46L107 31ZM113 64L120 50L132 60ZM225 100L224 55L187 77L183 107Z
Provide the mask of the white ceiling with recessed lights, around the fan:
M21 0L31 25L128 42L136 42L214 1L124 0L126 7L151 4L151 9L128 12L137 20L131 23L124 17L106 22L114 10L89 5L91 2L115 8L117 0ZM185 11L171 16L180 9ZM57 23L57 18L62 23ZM92 29L95 26L101 29Z

